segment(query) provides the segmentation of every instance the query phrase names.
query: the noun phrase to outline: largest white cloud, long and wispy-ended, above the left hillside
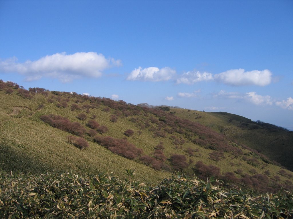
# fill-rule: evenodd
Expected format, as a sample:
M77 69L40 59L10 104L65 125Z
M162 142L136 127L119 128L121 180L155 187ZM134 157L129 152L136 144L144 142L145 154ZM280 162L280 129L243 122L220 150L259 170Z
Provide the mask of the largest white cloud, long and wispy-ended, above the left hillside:
M95 52L70 55L64 52L23 63L18 63L16 58L8 59L0 62L0 71L23 74L27 81L50 77L68 82L81 77L100 77L103 70L120 64L120 60L107 59L103 54Z

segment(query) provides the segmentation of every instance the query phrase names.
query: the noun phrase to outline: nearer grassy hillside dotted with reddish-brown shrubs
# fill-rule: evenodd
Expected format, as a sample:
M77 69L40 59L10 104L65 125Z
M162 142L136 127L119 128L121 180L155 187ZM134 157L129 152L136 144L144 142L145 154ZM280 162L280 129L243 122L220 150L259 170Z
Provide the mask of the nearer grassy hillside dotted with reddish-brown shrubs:
M245 140L182 119L180 113L185 112L74 92L25 90L0 81L0 167L31 174L105 171L120 177L127 168L149 183L180 171L204 179L213 175L255 192L292 190L291 171L251 151ZM187 111L185 117L191 113L195 116Z

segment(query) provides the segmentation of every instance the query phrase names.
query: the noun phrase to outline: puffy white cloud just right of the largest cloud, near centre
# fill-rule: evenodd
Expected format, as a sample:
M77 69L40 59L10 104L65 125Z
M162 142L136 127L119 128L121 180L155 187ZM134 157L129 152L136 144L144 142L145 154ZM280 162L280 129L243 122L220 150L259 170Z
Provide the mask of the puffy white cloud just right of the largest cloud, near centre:
M157 67L148 67L142 69L138 67L134 69L127 77L127 80L131 81L168 81L176 73L174 69L169 67L157 68Z

